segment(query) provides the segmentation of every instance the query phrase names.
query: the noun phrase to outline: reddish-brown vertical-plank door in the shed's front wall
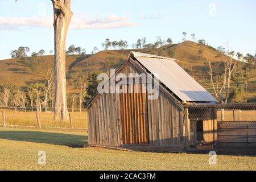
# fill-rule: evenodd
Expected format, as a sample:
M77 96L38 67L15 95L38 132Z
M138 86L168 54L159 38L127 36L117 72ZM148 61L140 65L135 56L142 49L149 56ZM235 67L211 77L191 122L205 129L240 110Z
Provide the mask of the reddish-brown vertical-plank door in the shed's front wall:
M120 94L120 114L123 144L148 144L146 93L142 84L123 85L127 93ZM134 92L129 92L129 86ZM137 90L137 92L135 92Z

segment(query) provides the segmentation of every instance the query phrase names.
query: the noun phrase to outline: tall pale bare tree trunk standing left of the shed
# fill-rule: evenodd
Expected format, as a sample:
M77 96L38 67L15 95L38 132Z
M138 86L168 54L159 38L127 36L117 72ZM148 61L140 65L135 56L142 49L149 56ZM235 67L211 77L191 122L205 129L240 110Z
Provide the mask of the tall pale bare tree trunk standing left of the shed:
M65 77L65 47L72 18L71 0L52 0L55 39L55 119L68 119Z

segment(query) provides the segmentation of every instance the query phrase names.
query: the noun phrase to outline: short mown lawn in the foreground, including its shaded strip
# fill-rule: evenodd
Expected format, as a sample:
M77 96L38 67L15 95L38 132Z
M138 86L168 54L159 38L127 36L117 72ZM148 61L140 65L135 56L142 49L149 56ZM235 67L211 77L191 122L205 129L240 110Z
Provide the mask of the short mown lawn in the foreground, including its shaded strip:
M256 170L254 156L156 154L83 147L86 133L0 128L1 170ZM46 165L38 152L46 152Z

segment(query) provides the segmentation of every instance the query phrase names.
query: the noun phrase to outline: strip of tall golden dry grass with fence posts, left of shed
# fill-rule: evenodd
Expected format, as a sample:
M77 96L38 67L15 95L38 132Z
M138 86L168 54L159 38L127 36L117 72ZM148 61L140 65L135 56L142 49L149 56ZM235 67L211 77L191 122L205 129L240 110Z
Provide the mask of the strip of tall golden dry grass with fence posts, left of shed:
M69 110L68 118L54 118L53 112L39 112L14 108L0 108L1 127L63 129L88 131L87 111Z

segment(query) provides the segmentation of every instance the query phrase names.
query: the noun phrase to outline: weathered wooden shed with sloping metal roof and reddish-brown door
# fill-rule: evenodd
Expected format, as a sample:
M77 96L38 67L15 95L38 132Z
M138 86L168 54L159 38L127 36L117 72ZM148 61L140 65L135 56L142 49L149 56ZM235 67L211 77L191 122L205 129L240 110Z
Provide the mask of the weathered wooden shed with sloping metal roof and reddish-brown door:
M214 121L214 114L206 111L206 118L188 116L184 105L209 104L216 100L176 61L131 52L127 61L109 78L108 85L114 80L114 89L112 85L103 88L88 104L89 144L185 150L193 145L193 139L189 139L193 135L189 135L188 130L193 127L197 130L196 125L185 123L185 117L203 122L202 130L207 130L203 138L205 142L212 141L214 128L210 122ZM123 77L125 75L127 78Z

